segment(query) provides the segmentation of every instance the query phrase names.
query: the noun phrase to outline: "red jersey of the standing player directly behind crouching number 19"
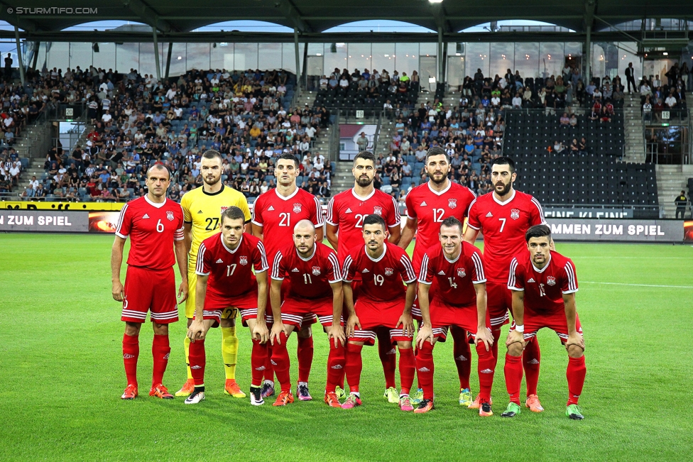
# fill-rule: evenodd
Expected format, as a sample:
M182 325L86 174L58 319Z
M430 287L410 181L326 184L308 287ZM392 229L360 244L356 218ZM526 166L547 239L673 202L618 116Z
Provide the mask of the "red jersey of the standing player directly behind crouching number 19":
M373 189L368 197L359 197L354 188L340 192L329 200L327 223L339 226L337 256L344 258L354 246L364 246L364 218L371 214L380 215L388 228L400 226L400 207L395 198L380 189Z

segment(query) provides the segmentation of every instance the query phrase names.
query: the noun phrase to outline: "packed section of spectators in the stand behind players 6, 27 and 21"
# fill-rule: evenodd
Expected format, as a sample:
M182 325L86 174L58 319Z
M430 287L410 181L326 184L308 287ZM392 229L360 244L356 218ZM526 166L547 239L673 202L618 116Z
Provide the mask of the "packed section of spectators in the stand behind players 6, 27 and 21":
M72 92L80 87L93 127L84 148L50 150L38 199L127 201L145 193L147 166L162 163L173 172L169 196L178 200L202 184L199 158L207 149L222 153L222 180L249 199L275 186L273 156L283 152L302 160L299 185L329 197L334 165L311 142L329 112L290 107L295 75L191 70L156 82L134 70L118 75L92 67L57 80Z

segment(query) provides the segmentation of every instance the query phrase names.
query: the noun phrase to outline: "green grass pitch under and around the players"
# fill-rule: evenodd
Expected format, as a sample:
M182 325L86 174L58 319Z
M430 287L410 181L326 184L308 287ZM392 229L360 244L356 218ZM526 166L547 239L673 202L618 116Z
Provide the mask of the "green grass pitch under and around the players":
M147 324L141 397L122 402L124 326L110 294L111 243L110 236L0 237L1 461L693 459L691 246L558 243L577 266L587 346L580 400L586 419L573 422L564 415L567 354L545 329L539 395L546 410L515 419L499 417L507 404L502 358L493 385L496 415L480 418L457 405L452 342L435 349L434 412L405 414L383 400L377 348L364 348L364 406L328 408L322 331L315 332L312 402L252 407L224 395L220 333L212 331L207 400L185 406L181 398L147 395L153 335ZM185 380L184 335L185 322L171 326L165 385L172 391ZM238 380L248 392L251 342L247 329L239 336ZM296 380L295 339L290 343ZM478 391L476 358L471 383Z

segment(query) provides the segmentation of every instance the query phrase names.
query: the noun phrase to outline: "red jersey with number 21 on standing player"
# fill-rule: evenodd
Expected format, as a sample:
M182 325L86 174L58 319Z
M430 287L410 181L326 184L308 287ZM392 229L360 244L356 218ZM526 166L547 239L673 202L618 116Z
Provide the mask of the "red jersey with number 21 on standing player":
M316 228L324 225L320 201L310 192L296 188L293 194L283 197L274 188L255 199L252 221L262 226L270 261L280 248L293 243L293 227L301 220L312 221Z

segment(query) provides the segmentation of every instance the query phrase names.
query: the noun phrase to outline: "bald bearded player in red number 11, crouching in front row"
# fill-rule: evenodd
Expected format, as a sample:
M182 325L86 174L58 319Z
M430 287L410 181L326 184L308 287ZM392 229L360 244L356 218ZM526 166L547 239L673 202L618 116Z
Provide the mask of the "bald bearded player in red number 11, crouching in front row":
M294 329L300 329L306 315L310 315L320 320L328 340L334 339L334 342L329 342L324 402L332 407L341 407L335 388L344 370L342 273L337 254L316 242L316 238L315 224L310 220L299 221L294 227L293 244L280 249L272 265L270 302L274 324L270 340L273 345L272 360L276 364L274 370L281 385L275 406L293 402L286 341ZM285 277L291 283L281 302L281 286ZM299 387L305 385L298 383Z

